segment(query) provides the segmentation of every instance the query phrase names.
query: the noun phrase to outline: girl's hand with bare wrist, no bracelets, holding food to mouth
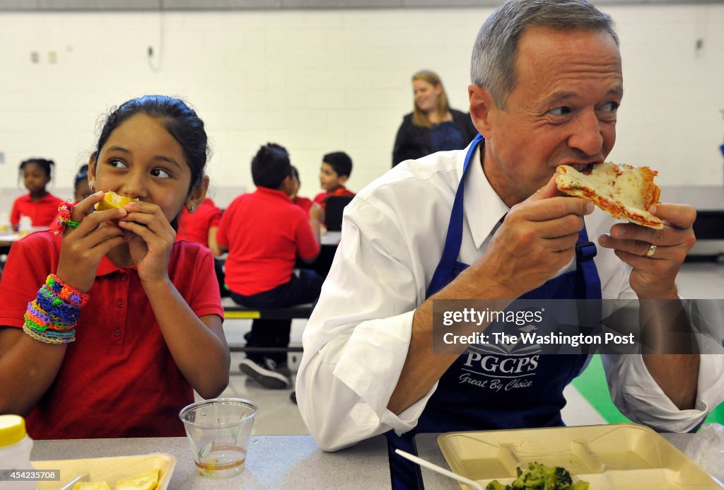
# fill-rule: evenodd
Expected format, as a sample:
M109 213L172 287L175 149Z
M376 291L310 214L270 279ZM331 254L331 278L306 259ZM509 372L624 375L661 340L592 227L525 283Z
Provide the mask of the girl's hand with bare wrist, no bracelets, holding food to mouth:
M125 230L131 260L141 282L168 278L169 258L176 232L159 206L132 201L125 206L127 216L118 222Z

